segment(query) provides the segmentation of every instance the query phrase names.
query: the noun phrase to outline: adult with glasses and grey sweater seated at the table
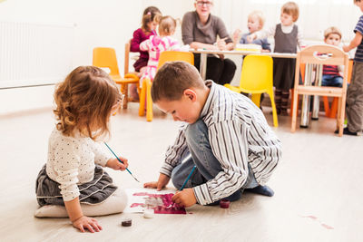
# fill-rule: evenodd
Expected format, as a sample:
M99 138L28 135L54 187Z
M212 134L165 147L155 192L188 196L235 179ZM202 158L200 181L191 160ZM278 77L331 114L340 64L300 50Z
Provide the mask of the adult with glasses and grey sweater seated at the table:
M193 49L231 51L233 41L221 18L211 15L212 6L211 0L194 2L195 11L186 13L182 18L182 41ZM219 57L208 55L206 78L223 85L233 79L236 64L223 55ZM201 54L194 53L194 65L198 70L200 63Z

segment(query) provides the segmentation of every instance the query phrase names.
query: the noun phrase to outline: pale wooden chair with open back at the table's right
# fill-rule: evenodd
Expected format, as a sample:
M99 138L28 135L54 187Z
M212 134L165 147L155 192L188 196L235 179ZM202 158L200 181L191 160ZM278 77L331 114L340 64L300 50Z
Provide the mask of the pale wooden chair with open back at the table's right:
M299 84L299 66L306 64L332 64L344 65L343 87L308 86ZM296 120L298 115L298 95L319 95L338 97L337 128L339 136L343 135L344 114L346 106L348 81L348 54L344 53L335 46L330 45L311 45L297 55L295 71L295 87L292 103L291 132L296 130ZM305 81L306 83L306 81Z

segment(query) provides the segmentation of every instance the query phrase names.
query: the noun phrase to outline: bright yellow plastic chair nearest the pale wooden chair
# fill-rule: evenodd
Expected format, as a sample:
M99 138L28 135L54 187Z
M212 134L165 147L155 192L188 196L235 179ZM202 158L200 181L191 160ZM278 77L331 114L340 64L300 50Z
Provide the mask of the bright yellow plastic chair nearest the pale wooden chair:
M273 97L273 62L267 55L247 55L243 60L240 73L240 86L225 84L224 86L233 92L246 92L252 94L252 102L260 107L260 95L267 92L270 95L272 106L273 125L279 126L276 112L275 99Z

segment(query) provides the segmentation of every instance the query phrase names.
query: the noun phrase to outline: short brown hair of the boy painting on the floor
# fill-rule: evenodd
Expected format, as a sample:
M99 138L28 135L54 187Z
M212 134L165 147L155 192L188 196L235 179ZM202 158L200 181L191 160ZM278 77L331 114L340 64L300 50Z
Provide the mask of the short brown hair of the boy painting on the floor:
M202 89L204 86L197 68L190 63L164 63L152 81L152 102L177 101L185 89Z

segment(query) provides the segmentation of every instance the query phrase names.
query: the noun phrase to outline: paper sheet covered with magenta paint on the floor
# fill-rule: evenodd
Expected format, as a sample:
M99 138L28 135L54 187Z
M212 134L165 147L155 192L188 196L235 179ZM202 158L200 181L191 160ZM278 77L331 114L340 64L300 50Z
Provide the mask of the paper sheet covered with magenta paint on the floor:
M145 199L145 204L142 204L142 207L152 208L155 214L187 214L185 208L179 207L172 202L173 193L151 194L147 192L137 192L133 193L132 196L147 196L148 198ZM140 206L140 204L135 204L134 207L136 206Z

